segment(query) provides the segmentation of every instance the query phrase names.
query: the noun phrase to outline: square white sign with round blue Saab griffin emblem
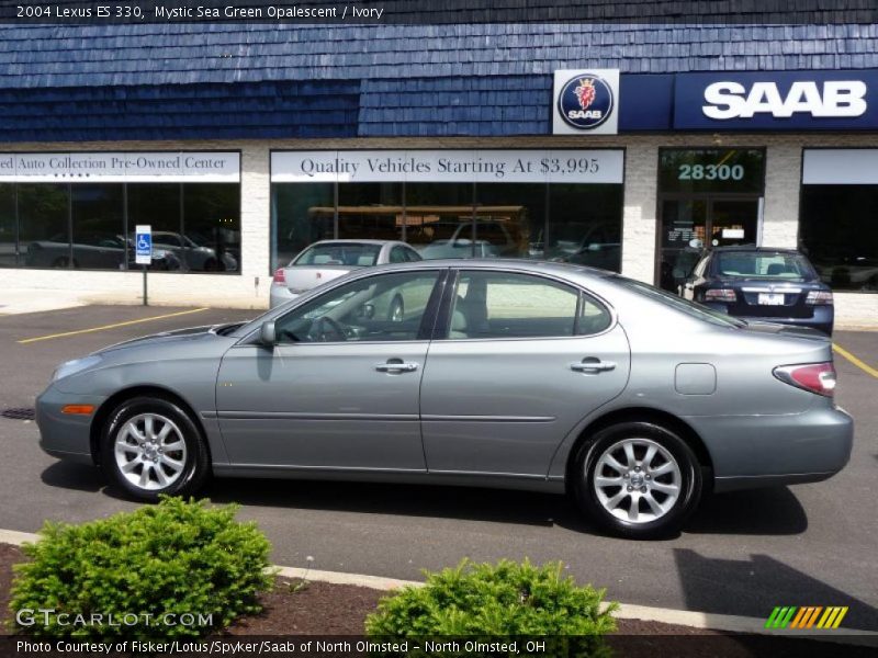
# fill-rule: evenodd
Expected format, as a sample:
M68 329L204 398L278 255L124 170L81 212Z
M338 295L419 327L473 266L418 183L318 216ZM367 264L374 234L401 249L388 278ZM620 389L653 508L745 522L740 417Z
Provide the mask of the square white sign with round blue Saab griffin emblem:
M552 133L617 134L618 99L618 69L555 71Z

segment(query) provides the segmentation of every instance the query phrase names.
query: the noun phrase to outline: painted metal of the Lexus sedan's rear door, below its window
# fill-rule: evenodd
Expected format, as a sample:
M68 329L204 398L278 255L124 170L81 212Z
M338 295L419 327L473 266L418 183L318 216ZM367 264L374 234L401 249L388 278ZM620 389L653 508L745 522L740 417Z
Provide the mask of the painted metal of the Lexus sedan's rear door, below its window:
M615 367L571 368L586 358ZM618 326L569 339L434 341L420 402L430 472L544 477L559 438L624 389L630 360Z

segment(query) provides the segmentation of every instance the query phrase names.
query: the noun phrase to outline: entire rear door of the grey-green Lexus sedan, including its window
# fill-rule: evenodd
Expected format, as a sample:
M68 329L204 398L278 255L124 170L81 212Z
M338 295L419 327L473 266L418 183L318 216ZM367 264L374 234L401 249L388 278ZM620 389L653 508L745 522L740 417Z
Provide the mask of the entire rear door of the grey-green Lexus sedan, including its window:
M428 469L544 477L577 422L624 388L623 331L596 297L533 274L463 270L447 302L421 382Z

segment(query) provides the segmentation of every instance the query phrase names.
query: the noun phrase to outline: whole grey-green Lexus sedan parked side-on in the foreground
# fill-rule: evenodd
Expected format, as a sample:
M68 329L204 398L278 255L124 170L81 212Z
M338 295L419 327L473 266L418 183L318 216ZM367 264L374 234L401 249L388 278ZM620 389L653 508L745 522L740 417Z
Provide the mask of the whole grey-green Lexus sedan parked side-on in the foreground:
M405 313L376 313L390 299ZM134 498L211 475L573 494L628 537L708 489L847 463L829 339L744 321L603 270L424 261L331 281L247 324L60 365L41 445Z

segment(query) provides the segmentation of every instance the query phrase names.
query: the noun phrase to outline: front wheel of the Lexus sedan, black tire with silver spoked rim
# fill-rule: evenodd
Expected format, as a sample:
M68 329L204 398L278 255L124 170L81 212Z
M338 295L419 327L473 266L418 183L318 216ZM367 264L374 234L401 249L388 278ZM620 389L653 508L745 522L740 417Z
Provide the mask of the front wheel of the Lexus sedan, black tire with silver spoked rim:
M104 426L101 455L112 480L137 500L192 494L210 474L199 428L179 406L159 398L122 402Z

